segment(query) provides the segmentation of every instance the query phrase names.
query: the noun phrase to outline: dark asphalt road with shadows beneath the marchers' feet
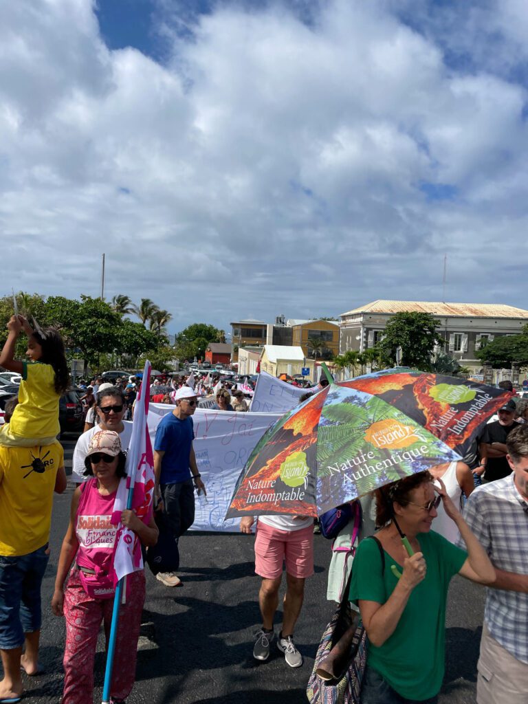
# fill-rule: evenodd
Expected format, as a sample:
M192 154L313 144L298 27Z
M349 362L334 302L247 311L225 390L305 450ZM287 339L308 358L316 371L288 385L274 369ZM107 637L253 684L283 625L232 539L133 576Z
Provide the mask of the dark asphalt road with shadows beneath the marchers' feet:
M73 441L65 441L68 460ZM64 622L49 609L58 551L68 523L73 489L57 496L51 532L51 559L43 584L41 665L46 674L25 677L24 701L56 704L62 692ZM296 628L305 658L291 670L278 650L268 662L252 658L260 617L259 580L253 572L253 538L190 533L180 542L184 586L168 589L147 570L146 620L138 653L137 682L129 704L306 704L306 681L334 606L326 601L330 543L315 536L315 575ZM456 577L448 601L446 678L441 704L473 704L484 589ZM277 614L279 624L279 614ZM278 628L277 628L278 630ZM96 692L101 700L104 654L99 638Z

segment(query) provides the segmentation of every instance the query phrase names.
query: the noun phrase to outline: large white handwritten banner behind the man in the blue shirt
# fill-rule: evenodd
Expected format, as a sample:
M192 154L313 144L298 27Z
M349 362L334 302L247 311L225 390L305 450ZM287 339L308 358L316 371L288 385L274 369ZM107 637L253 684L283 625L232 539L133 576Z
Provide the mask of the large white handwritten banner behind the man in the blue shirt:
M152 446L156 428L165 413L174 406L151 403L149 432ZM196 514L191 530L237 532L238 518L224 522L234 487L246 460L266 430L280 415L275 413L232 413L227 410L196 408L194 423L194 453L207 497L195 496Z

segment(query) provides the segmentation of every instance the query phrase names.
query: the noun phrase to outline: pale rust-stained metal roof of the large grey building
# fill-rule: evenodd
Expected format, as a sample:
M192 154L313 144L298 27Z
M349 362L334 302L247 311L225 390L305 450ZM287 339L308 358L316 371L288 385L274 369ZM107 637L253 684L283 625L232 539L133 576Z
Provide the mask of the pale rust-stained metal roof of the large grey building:
M431 313L449 318L527 318L528 310L504 306L502 303L441 303L439 301L372 301L366 306L341 313L360 315L361 313Z

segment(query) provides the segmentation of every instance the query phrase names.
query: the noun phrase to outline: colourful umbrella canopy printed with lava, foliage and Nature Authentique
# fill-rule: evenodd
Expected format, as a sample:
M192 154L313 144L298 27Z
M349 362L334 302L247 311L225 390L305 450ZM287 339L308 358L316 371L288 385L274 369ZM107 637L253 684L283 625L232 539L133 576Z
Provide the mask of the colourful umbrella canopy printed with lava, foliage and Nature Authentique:
M260 439L226 518L315 517L384 484L460 460L477 429L509 396L424 372L330 384Z

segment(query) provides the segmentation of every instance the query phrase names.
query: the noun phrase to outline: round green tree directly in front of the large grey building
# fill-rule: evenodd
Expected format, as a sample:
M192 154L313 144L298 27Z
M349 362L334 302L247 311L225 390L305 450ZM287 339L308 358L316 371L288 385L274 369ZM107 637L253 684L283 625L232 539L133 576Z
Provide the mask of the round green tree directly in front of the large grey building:
M444 344L430 313L396 313L386 324L384 339L377 344L384 357L396 365L396 349L401 347L401 365L429 371L437 344Z

